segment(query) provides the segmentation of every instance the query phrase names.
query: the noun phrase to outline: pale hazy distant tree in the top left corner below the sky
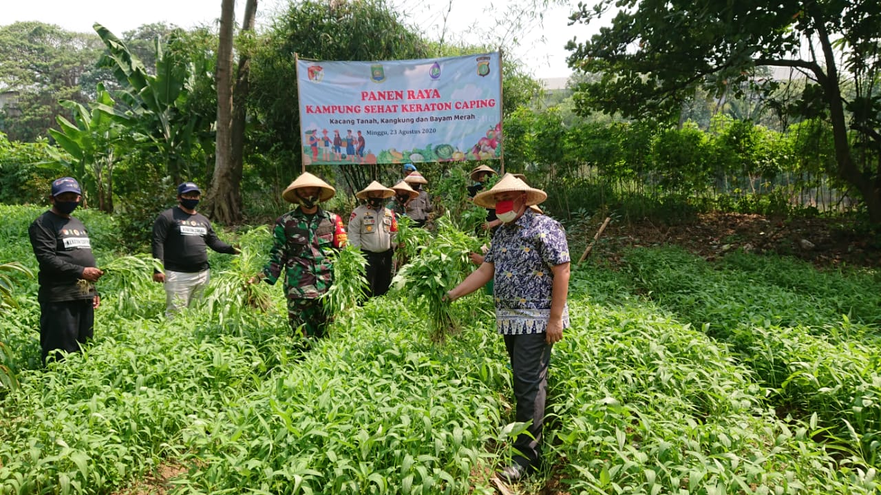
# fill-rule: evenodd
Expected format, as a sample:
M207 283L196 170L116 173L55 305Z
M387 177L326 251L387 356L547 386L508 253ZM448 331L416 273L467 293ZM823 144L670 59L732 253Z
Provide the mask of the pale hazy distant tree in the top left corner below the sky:
M70 33L40 22L0 26L0 88L15 92L0 125L13 141L33 142L56 128L56 115L68 115L58 100L85 103L91 96L82 81L100 79L95 66L101 51L93 34ZM93 85L91 87L94 87Z

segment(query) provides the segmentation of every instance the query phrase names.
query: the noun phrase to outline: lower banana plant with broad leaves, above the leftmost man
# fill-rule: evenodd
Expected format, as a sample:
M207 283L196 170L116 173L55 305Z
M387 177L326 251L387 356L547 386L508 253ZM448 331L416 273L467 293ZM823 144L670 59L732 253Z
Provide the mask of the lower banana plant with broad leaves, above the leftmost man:
M125 130L130 116L115 109L115 101L100 84L96 100L89 104L91 108L71 100L60 104L73 113L73 122L58 115L60 130L49 129L49 134L70 158L57 151L53 152L54 158L84 182L87 198L98 198L100 211L112 212L113 168L119 156L116 149L129 137Z

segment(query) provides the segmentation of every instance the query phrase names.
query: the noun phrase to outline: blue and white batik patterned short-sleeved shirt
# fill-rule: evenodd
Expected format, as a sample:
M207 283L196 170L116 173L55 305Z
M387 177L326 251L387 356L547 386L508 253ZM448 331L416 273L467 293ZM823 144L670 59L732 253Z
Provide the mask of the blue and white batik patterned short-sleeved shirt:
M551 318L552 267L569 262L563 226L527 209L514 223L496 230L485 262L495 266L493 295L499 333L544 333ZM563 328L568 327L566 306Z

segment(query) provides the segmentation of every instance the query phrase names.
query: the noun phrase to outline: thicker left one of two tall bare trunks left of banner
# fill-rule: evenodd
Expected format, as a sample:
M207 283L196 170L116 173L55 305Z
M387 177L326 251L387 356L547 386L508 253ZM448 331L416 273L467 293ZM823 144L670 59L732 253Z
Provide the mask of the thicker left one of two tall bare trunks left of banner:
M218 43L218 121L214 176L208 194L207 212L225 224L241 220L235 187L233 154L233 16L235 0L222 0L220 8L220 39Z

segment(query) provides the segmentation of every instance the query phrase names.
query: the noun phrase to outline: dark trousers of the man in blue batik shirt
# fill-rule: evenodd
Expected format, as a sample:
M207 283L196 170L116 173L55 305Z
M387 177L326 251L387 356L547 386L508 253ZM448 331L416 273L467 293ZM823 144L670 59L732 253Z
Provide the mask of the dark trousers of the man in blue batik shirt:
M532 424L514 441L520 453L514 461L524 468L536 469L541 462L544 402L547 399L548 367L553 344L544 342L544 333L505 336L505 348L511 359L516 399L516 420Z

